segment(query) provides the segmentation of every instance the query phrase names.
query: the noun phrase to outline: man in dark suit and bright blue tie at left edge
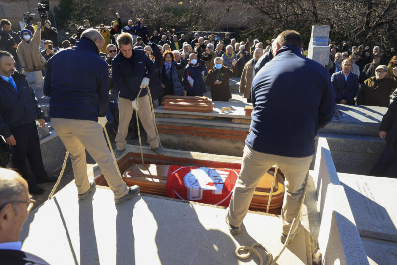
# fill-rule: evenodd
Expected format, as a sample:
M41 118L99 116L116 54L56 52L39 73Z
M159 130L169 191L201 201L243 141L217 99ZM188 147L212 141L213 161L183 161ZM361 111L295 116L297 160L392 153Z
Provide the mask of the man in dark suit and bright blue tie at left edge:
M14 167L28 182L30 193L37 195L44 189L36 183L54 182L57 178L47 175L41 157L35 120L43 128L44 114L25 75L15 71L14 64L10 53L0 51L0 134L11 145Z

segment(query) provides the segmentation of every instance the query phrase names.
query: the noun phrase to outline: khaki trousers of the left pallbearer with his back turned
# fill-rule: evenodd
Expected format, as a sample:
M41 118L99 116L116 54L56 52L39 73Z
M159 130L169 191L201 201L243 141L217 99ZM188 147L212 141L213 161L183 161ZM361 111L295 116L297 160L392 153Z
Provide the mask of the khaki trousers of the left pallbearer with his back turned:
M115 198L118 199L127 194L128 187L117 172L103 135L103 127L98 122L51 118L51 124L70 153L78 194L83 194L90 188L85 149L98 163Z

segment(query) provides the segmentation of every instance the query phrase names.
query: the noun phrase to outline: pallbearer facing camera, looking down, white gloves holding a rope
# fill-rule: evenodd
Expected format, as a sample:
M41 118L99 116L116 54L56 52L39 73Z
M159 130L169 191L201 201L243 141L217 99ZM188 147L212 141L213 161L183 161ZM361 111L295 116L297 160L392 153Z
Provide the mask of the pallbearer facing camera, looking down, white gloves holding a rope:
M150 76L156 65L141 48L132 48L132 37L122 33L117 37L120 52L112 60L112 78L119 93L119 128L116 135L115 156L120 156L127 144L126 137L133 110L135 109L147 134L150 147L163 153L155 129L148 95ZM140 94L139 94L140 91ZM138 96L139 94L139 96Z

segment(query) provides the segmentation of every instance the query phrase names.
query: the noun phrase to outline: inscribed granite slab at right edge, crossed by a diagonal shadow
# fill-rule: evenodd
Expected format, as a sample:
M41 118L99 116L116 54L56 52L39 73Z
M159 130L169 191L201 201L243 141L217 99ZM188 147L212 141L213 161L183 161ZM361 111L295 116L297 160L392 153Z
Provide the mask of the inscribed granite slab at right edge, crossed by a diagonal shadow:
M361 236L397 242L397 179L338 173Z

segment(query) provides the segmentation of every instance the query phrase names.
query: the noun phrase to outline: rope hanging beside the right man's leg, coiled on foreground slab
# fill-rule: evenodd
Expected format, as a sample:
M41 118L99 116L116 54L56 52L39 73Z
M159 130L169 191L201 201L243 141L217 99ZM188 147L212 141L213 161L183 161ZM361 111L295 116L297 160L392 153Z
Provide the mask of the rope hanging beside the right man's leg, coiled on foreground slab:
M278 166L276 167L276 171L277 171L277 168L278 168ZM276 174L274 174L274 177L275 176L276 176ZM254 253L256 256L258 256L260 265L263 265L262 256L260 255L260 253L256 249L254 249L254 247L262 247L265 250L265 253L267 254L267 256L269 257L267 259L266 265L274 265L274 264L276 264L278 258L280 258L281 254L283 253L283 251L285 250L285 248L287 247L287 245L289 243L289 240L290 240L290 237L291 237L291 234L292 234L291 233L292 230L295 228L296 224L298 224L298 222L299 222L299 219L300 219L299 215L300 215L301 210L302 210L303 201L305 200L308 178L309 178L309 172L306 174L305 184L304 184L304 187L303 187L303 193L302 193L302 196L301 196L301 198L299 200L298 212L296 213L294 219L292 220L292 224L291 224L291 227L289 228L287 239L285 240L284 246L278 252L278 254L274 258L274 260L273 260L273 255L260 243L254 243L251 246L240 246L240 247L238 247L235 250L235 254L236 254L237 258L239 258L239 259L247 259L247 258L249 258L251 256L252 253ZM270 197L271 197L271 193L270 193ZM270 200L270 198L269 198L269 200ZM239 254L238 252L240 250L248 250L248 252L246 254Z

